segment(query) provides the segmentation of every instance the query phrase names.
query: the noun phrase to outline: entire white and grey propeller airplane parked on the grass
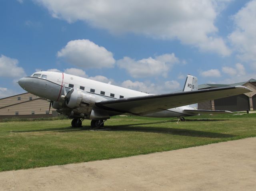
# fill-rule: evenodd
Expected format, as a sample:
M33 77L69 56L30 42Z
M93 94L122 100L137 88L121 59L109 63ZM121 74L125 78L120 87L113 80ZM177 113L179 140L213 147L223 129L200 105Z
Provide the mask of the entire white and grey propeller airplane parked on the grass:
M194 116L204 113L232 113L222 110L198 110L197 103L248 93L244 86L198 90L198 79L188 75L182 92L148 94L60 72L39 71L18 81L29 93L45 98L60 114L73 119L72 127L81 127L84 119L91 128L104 128L111 116L129 113L147 117Z

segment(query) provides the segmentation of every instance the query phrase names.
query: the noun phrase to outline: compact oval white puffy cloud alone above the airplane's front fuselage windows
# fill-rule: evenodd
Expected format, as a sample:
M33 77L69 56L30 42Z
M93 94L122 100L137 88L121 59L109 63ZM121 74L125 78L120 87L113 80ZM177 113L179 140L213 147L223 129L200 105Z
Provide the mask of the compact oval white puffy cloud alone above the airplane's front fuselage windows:
M57 56L82 68L114 67L115 64L112 52L87 39L69 41Z

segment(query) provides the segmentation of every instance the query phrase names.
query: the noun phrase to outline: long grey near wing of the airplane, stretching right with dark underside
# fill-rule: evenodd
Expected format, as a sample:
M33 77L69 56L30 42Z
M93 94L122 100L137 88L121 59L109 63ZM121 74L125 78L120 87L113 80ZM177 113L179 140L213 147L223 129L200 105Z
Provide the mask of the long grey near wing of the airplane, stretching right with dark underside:
M96 102L95 105L105 110L144 115L162 111L163 109L239 95L250 91L250 89L244 86L221 87L197 91L120 98L115 100L102 100Z

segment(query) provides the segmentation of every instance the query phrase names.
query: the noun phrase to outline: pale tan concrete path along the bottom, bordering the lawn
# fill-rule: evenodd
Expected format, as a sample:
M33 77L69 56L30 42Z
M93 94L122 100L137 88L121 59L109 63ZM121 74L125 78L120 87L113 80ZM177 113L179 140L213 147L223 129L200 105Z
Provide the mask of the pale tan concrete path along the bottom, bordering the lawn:
M1 172L0 190L255 191L256 138Z

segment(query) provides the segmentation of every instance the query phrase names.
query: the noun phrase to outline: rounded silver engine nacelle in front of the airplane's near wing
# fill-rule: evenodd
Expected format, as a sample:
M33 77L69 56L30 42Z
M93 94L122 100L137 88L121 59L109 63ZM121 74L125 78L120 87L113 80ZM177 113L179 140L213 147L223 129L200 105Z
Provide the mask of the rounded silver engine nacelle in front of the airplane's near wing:
M95 95L83 92L80 89L74 89L70 97L66 100L66 106L76 108L81 106L92 107L95 103Z

